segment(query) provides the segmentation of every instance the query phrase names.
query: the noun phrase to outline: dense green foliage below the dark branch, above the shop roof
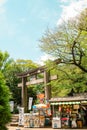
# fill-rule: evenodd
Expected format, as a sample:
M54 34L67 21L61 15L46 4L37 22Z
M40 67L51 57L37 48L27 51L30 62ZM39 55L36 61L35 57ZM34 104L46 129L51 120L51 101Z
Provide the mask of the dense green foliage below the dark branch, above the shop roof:
M87 92L87 74L74 65L55 64L53 61L46 63L51 75L57 75L57 80L51 81L52 97Z

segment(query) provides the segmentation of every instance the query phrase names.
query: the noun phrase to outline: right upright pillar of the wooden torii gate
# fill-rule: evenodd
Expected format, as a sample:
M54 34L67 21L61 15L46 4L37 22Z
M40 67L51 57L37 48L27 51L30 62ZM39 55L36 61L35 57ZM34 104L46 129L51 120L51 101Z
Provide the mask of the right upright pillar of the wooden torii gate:
M50 71L44 71L44 85L45 85L45 98L49 100L51 98L51 85L50 82Z

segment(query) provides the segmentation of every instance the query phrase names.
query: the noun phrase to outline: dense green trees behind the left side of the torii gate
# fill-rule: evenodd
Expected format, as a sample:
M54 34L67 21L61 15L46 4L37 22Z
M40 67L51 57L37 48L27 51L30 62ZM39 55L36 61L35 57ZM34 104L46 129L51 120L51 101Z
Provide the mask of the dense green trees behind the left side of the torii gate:
M12 95L10 100L13 100L15 104L21 105L21 88L18 88L18 83L21 82L21 79L17 77L17 74L29 71L37 66L38 65L31 60L18 59L14 61L10 58L8 52L0 51L0 70L5 77L6 85ZM36 94L32 88L28 88L30 90L30 96L32 93L33 95Z

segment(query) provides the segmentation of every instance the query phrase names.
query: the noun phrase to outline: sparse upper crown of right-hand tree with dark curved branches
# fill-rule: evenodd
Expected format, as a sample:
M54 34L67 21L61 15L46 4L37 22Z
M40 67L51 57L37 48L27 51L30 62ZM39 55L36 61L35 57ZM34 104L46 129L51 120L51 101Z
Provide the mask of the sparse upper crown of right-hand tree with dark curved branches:
M86 12L86 13L85 13ZM78 18L68 20L54 30L47 30L40 40L42 51L61 59L63 64L74 64L87 72L87 10ZM84 17L83 17L84 16ZM83 17L83 21L80 19Z

